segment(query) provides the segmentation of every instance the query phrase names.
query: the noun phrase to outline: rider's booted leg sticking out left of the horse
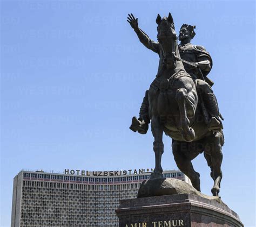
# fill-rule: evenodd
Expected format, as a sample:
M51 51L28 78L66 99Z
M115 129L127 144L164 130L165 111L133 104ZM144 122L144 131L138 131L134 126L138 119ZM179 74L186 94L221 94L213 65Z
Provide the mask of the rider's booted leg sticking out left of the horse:
M132 124L130 129L133 132L137 132L140 134L146 134L147 130L149 129L149 91L146 91L145 97L143 98L142 105L139 111L139 118L133 117Z

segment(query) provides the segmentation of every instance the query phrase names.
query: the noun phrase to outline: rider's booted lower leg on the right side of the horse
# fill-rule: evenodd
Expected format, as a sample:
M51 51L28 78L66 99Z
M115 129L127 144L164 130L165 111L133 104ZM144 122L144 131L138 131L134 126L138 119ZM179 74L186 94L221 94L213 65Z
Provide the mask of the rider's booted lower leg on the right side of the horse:
M213 93L208 93L206 95L206 98L207 98L207 102L206 102L207 108L210 111L210 115L212 116L212 118L208 123L208 130L220 131L221 129L223 129L223 124L221 122L221 119L222 120L224 119L220 115L217 99Z

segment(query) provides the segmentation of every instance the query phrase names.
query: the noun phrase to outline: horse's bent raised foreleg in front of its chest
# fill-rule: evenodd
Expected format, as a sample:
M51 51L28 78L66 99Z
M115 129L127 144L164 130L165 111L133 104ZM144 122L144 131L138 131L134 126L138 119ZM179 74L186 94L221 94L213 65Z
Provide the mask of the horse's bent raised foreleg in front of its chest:
M180 128L181 128L182 137L186 142L191 142L193 141L195 134L194 134L194 130L189 126L190 120L187 118L187 110L186 110L187 90L185 88L180 88L177 90L176 100L179 105Z

